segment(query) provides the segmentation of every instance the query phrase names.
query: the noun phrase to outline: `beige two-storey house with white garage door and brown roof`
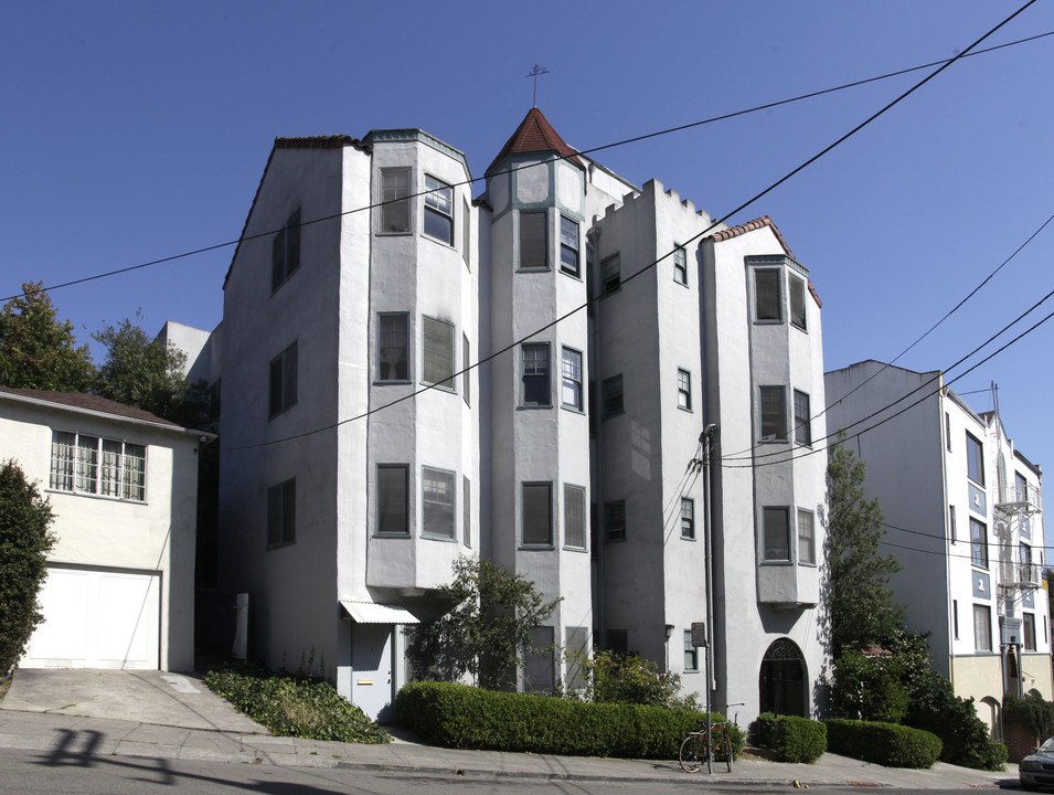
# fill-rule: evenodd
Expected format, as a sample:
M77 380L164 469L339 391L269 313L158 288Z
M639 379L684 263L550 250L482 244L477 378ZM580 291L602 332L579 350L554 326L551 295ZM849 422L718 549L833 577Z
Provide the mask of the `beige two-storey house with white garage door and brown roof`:
M47 497L58 539L22 668L193 668L201 438L95 395L0 386L0 457Z

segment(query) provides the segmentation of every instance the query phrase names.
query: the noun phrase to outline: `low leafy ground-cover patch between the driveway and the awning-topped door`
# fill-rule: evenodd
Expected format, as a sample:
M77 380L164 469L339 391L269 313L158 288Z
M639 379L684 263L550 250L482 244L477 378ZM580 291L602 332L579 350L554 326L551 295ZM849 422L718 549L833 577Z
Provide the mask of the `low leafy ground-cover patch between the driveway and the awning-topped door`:
M278 736L386 743L392 738L327 681L253 667L209 671L205 685Z

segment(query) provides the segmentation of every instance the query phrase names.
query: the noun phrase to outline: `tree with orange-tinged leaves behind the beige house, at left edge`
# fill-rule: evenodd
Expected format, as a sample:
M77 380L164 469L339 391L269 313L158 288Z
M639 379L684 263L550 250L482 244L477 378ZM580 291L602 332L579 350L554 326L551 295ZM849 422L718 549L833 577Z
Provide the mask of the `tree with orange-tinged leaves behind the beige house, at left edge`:
M0 309L0 383L15 389L84 392L95 374L87 344L60 321L40 282L22 285Z

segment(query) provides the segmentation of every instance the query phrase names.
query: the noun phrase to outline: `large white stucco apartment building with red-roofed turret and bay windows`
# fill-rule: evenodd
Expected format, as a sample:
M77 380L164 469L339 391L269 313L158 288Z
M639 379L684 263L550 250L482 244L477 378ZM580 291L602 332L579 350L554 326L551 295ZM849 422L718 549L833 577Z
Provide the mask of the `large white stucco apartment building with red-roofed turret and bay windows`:
M705 623L715 704L811 714L807 271L769 219L714 225L537 108L470 180L418 129L275 142L224 286L220 571L249 653L384 716L400 627L479 554L562 597L540 646L639 651L703 693ZM535 655L520 685L575 676Z

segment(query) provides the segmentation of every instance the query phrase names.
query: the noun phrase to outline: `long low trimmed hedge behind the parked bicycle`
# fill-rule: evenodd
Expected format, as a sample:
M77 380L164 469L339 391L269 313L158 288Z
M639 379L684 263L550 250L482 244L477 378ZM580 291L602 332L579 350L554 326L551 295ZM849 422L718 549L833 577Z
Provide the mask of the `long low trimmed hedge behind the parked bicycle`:
M428 742L446 748L677 759L684 735L706 716L694 710L586 703L447 682L414 682L396 696L395 719ZM720 716L715 720L721 720ZM732 732L737 755L745 738L734 727Z

